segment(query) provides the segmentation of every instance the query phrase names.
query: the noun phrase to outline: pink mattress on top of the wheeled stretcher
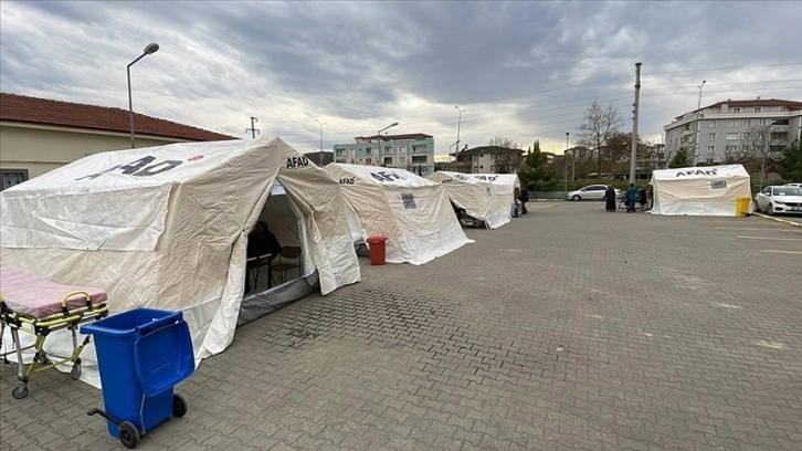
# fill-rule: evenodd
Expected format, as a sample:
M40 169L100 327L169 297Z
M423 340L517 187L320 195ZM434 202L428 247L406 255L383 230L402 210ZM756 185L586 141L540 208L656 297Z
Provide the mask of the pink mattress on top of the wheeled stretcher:
M86 286L60 285L28 271L0 270L0 293L6 306L21 315L43 318L61 312L61 300L71 292L85 291L93 304L106 301L106 292ZM67 298L70 310L86 306L86 297L76 294Z

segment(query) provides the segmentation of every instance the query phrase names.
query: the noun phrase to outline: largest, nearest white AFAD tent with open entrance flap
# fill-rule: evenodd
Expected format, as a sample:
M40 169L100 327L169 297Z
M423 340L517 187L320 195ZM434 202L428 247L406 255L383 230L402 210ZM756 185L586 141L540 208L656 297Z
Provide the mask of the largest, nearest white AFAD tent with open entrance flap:
M345 211L337 181L278 138L108 151L3 190L0 255L3 268L107 291L112 314L182 311L200 359L229 346L245 304L252 319L318 284L327 294L359 281ZM292 281L243 302L258 219L303 253Z

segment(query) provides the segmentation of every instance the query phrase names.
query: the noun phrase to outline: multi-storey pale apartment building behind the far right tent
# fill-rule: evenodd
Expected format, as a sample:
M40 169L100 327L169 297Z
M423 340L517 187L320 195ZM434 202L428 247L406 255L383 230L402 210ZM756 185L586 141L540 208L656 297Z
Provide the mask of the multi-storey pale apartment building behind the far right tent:
M663 128L667 159L685 147L695 165L736 162L756 148L779 154L802 139L802 102L727 99L677 116Z

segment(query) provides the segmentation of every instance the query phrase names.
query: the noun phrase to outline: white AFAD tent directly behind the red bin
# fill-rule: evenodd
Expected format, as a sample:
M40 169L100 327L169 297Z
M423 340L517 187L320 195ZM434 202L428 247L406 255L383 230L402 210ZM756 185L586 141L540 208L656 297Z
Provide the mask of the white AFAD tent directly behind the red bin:
M395 168L333 162L324 170L342 187L362 240L388 238L390 263L423 264L472 242L440 183Z

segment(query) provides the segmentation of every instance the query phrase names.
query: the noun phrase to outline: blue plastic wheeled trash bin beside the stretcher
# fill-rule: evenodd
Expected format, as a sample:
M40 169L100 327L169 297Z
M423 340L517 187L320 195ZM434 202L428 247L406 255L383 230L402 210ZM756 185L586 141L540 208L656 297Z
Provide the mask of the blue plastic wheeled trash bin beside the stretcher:
M95 412L106 418L112 437L134 448L138 434L171 413L183 416L186 402L173 399L173 387L194 371L194 354L181 312L136 308L82 326L81 333L95 338L106 408ZM136 438L125 422L136 427Z

